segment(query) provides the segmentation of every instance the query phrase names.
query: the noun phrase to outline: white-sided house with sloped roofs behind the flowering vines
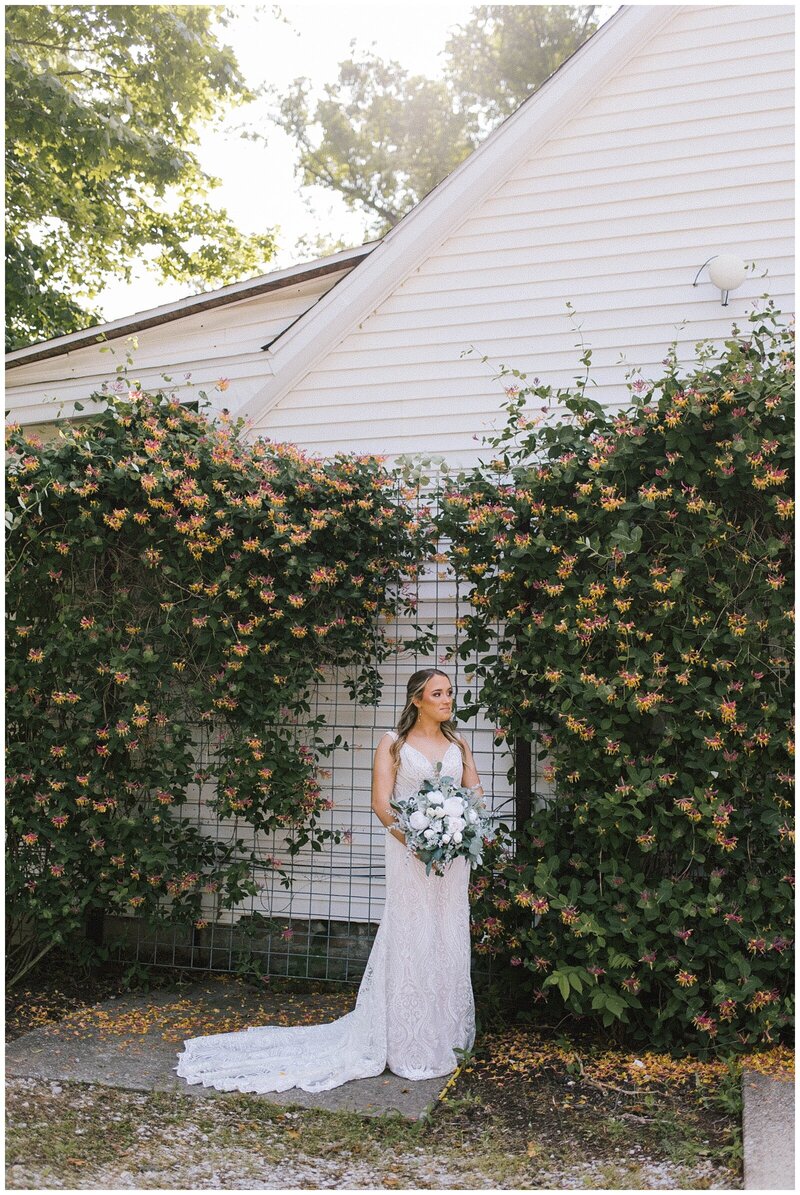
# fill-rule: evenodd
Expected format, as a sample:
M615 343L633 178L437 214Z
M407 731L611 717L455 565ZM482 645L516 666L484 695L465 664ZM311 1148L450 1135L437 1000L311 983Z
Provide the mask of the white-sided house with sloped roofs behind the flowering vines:
M764 293L793 311L793 24L790 5L621 8L380 241L17 350L10 417L47 434L59 404L71 416L109 376L98 335L115 347L135 331L145 386L169 374L179 388L190 373L210 393L224 375L230 390L215 400L245 415L252 435L466 465L503 422L482 355L554 385L579 372L568 302L593 350L593 397L624 403L625 373L658 374L671 341L689 357ZM725 307L707 270L692 284L722 253L751 263ZM420 596L444 652L452 586L432 575ZM380 727L411 668L402 661L387 678ZM344 820L364 874L354 888L350 871L347 902L374 919L375 718L354 719ZM490 743L477 728L478 762L506 798L507 761ZM343 766L335 759L334 789Z

